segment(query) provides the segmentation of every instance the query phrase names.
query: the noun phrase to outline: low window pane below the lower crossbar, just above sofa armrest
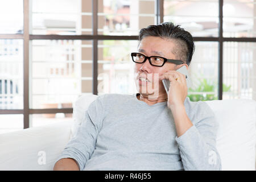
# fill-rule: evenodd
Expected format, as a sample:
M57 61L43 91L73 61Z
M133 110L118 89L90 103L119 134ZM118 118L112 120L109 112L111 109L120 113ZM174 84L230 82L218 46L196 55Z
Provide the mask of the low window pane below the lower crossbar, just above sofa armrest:
M30 127L49 125L56 122L73 121L72 113L30 114Z

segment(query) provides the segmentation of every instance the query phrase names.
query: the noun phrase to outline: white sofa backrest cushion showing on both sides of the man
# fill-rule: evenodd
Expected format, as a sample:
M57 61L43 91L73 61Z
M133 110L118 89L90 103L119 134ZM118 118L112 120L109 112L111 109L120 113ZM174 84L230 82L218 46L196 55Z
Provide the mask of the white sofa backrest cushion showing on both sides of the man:
M76 101L72 135L84 119L88 106L97 97L90 94ZM256 102L247 99L205 102L213 110L219 124L216 148L221 156L222 170L254 170Z

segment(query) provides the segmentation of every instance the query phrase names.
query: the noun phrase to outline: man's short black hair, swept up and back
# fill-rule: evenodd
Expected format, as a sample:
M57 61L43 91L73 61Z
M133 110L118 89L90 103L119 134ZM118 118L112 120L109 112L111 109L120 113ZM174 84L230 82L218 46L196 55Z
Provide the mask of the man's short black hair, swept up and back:
M189 65L192 60L192 55L195 51L195 44L192 35L181 28L180 25L175 25L172 22L164 22L158 25L150 25L142 28L139 31L139 42L146 36L158 36L160 38L172 39L176 44L176 48L172 52L180 59Z

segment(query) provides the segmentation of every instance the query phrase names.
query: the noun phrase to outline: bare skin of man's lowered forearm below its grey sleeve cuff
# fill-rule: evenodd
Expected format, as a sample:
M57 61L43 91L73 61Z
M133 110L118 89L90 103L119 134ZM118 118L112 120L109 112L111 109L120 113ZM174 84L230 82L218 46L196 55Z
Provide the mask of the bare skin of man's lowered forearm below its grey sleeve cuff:
M74 159L64 158L55 163L53 171L79 171L79 166Z

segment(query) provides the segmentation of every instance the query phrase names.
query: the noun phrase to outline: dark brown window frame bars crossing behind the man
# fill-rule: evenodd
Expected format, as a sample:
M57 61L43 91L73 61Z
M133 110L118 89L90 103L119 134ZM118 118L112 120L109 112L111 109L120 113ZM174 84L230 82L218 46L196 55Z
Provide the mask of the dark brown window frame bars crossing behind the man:
M138 40L138 36L98 35L98 0L92 1L92 35L33 35L30 34L30 3L23 0L23 34L0 34L0 39L23 40L23 109L0 110L0 114L23 114L23 128L30 127L30 114L73 113L73 108L30 109L30 42L31 40L92 40L93 42L93 85L92 93L97 93L98 77L98 41L99 40ZM163 22L164 0L156 0L156 23ZM218 100L222 100L223 83L223 44L224 42L256 42L256 38L223 37L223 0L218 0L218 37L194 37L195 42L218 42Z

